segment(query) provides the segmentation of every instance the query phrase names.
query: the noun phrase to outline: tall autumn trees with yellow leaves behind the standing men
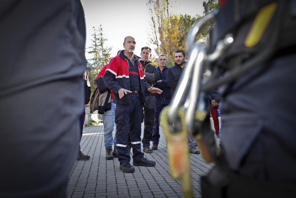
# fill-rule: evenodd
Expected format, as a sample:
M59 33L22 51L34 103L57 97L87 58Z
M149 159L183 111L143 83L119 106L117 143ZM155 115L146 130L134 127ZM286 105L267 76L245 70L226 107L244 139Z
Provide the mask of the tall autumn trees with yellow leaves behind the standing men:
M186 37L199 15L175 15L169 12L168 0L148 0L147 6L151 18L152 35L150 42L155 46L157 55L168 58L168 66L174 63L174 52L186 50Z

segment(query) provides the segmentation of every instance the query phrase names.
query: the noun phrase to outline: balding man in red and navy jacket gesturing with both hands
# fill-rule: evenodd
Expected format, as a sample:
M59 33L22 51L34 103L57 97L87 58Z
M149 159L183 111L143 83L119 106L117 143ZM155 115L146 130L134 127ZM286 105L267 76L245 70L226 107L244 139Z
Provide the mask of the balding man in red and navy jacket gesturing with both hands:
M133 147L134 166L155 166L155 161L144 158L141 152L141 121L143 105L145 104L145 91L161 94L159 88L151 87L144 81L145 73L140 57L134 55L136 41L128 36L123 41L124 50L111 59L107 66L104 82L114 93L115 123L117 123L117 151L120 170L134 172L130 164L130 154L127 148L128 131L130 130Z

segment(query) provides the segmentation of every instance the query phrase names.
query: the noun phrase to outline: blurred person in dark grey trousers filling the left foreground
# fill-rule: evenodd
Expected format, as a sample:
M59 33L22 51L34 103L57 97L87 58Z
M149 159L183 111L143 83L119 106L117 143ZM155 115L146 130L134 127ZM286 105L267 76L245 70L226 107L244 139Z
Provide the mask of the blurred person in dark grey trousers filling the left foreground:
M0 197L66 197L84 111L80 1L1 1ZM12 77L13 76L13 77Z

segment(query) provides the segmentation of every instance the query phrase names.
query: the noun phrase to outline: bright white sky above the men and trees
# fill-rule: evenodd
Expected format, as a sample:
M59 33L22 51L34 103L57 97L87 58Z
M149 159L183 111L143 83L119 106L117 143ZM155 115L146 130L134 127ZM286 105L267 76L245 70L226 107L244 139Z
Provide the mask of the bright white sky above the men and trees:
M174 14L203 15L202 2L206 0L170 0L169 12ZM135 54L140 56L141 47L152 45L148 42L151 31L147 0L81 0L86 19L86 48L92 42L93 27L102 24L105 47L112 47L111 56L123 49L123 39L132 36L136 40ZM86 49L87 51L87 49ZM153 54L157 57L158 55ZM86 58L91 56L86 53Z

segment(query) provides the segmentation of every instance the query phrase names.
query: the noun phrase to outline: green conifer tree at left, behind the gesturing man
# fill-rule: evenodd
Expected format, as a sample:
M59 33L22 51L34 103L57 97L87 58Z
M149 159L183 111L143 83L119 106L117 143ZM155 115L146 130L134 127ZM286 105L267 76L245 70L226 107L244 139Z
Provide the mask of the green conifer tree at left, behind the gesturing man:
M112 47L105 47L104 42L108 39L103 37L103 28L102 25L98 29L93 27L94 34L93 42L91 47L88 48L89 51L87 53L91 54L93 58L88 59L88 70L89 70L89 81L91 83L91 94L94 92L96 86L93 83L95 77L98 75L99 71L102 69L104 65L109 63L111 57L110 51Z

